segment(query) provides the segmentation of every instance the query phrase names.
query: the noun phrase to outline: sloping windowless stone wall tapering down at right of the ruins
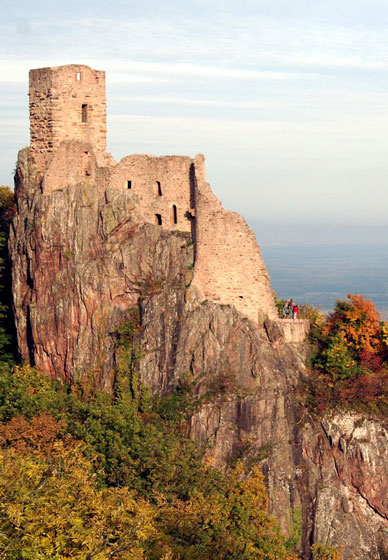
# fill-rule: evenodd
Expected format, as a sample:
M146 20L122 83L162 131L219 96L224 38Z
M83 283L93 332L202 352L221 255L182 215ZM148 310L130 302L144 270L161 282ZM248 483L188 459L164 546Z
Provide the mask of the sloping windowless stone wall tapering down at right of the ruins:
M239 214L222 208L203 179L198 174L194 287L204 299L234 305L253 321L275 319L269 277L254 233Z

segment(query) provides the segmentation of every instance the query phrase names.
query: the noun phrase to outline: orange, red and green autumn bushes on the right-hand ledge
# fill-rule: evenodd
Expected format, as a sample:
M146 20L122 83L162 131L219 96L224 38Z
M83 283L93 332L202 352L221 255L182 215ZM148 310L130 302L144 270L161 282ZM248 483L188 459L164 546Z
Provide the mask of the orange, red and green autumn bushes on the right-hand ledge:
M315 337L307 380L314 409L349 405L388 414L388 322L362 295L337 301Z

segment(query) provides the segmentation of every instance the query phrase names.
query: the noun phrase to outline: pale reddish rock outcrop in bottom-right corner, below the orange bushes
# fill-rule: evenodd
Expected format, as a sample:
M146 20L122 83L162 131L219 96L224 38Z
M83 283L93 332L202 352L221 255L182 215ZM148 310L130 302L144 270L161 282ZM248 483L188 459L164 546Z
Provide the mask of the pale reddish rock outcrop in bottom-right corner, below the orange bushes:
M388 558L387 442L386 426L355 413L303 431L312 537L342 545L345 559Z

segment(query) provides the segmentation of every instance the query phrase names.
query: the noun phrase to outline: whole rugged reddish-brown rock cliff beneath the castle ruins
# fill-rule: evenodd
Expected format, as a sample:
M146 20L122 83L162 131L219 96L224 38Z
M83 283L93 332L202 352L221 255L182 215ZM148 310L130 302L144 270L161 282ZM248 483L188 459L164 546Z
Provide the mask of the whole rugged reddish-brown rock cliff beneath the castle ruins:
M144 223L133 192L96 192L86 178L45 193L41 179L22 151L10 251L23 358L109 390L117 328L138 308L142 381L166 393L189 379L208 395L192 437L216 465L261 464L283 528L302 512L303 558L314 542L341 545L348 560L387 558L386 427L351 413L312 420L298 390L306 345L197 300L191 234Z

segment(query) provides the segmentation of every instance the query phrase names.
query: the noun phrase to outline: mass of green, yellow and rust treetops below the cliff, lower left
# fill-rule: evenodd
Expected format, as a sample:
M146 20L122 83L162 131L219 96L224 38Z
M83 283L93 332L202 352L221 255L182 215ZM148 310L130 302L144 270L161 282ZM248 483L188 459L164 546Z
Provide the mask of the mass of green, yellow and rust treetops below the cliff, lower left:
M260 469L225 474L183 435L191 398L127 373L85 401L0 364L0 558L285 560Z

